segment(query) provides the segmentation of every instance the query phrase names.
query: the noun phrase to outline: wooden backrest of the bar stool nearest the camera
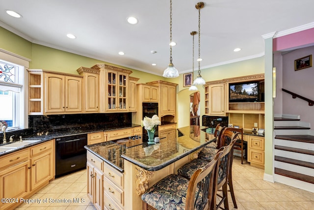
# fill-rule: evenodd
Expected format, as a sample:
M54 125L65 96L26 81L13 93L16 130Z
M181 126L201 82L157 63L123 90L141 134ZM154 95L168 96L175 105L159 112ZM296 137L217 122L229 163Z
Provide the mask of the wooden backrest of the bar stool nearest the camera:
M209 209L213 195L217 192L214 178L218 173L217 163L222 153L222 151L217 152L209 164L193 173L187 187L185 210ZM196 191L197 187L198 191ZM200 193L203 194L201 202L199 201Z

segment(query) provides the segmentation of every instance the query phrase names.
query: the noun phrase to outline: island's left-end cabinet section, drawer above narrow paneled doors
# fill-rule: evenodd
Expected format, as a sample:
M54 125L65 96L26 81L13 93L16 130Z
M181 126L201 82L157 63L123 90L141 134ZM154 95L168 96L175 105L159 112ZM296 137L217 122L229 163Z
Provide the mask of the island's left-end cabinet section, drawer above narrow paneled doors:
M97 210L104 208L104 174L103 161L87 151L87 197Z

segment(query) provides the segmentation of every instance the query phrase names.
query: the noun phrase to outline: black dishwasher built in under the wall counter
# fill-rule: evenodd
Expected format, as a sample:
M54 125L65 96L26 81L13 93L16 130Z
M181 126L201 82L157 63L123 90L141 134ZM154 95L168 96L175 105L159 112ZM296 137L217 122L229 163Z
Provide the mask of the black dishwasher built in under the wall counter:
M86 168L87 134L65 136L55 140L55 177Z

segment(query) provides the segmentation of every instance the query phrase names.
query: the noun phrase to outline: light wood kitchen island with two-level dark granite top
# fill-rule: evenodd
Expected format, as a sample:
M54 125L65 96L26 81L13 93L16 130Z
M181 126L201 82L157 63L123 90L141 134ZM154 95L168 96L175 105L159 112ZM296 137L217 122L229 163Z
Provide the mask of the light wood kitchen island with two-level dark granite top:
M140 196L148 187L176 173L213 141L202 131L205 128L192 125L163 130L156 133L160 142L153 145L143 143L126 148L105 142L85 146L88 197L97 209L142 209Z

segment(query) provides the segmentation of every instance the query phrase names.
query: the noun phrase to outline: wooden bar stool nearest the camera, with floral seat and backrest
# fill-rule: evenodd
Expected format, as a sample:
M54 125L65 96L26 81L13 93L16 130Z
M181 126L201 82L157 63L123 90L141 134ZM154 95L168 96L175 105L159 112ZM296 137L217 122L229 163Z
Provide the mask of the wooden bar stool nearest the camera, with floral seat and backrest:
M141 196L143 209L209 210L218 173L218 152L211 162L197 169L191 179L171 174L148 188Z

